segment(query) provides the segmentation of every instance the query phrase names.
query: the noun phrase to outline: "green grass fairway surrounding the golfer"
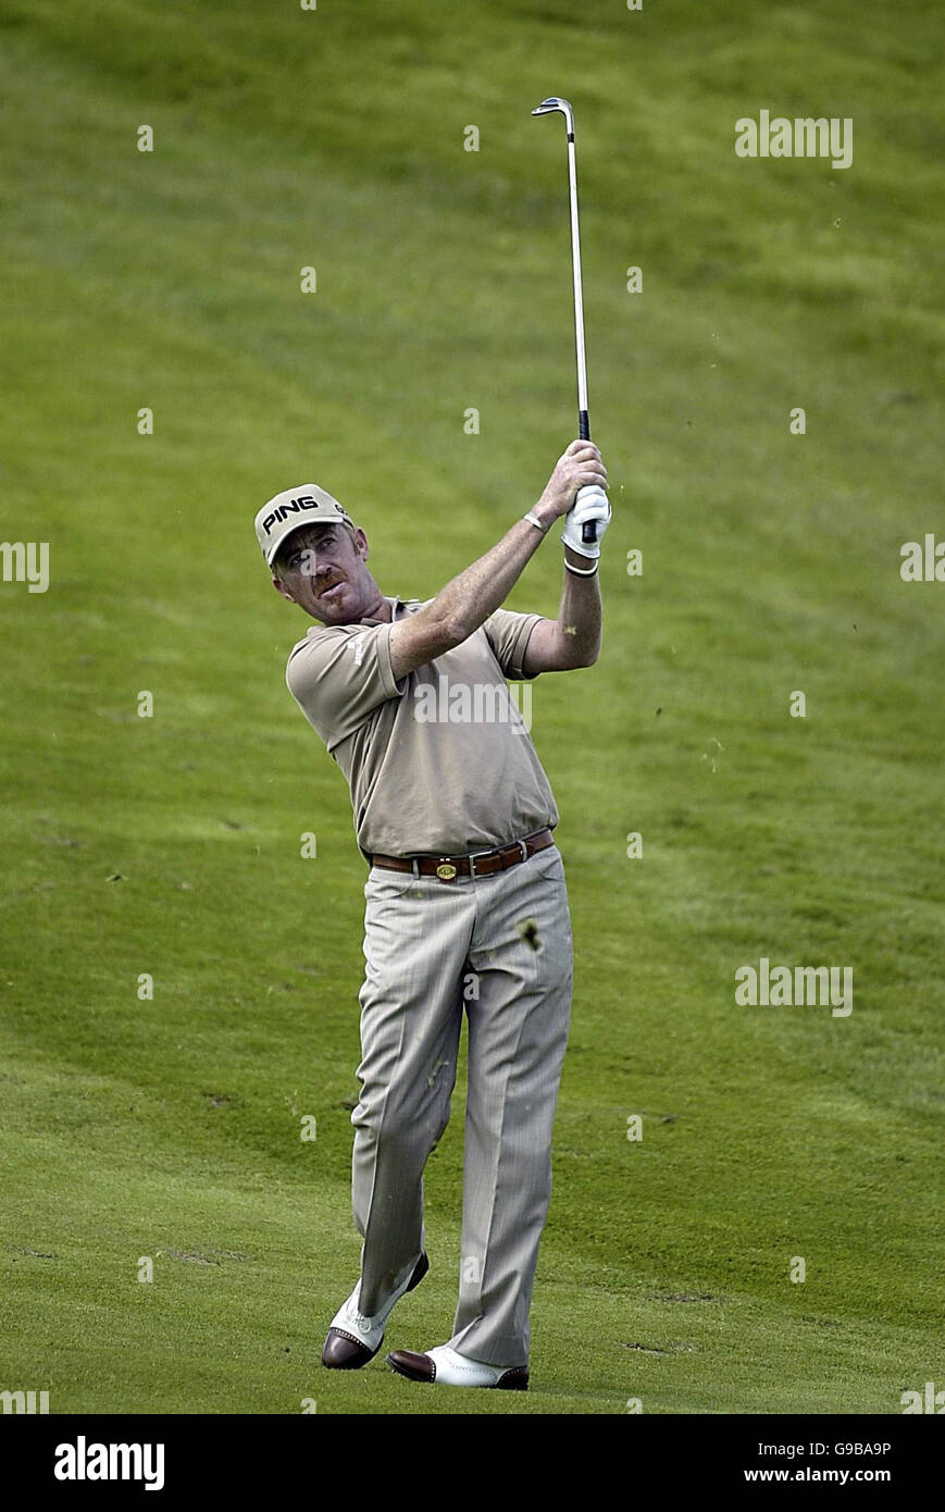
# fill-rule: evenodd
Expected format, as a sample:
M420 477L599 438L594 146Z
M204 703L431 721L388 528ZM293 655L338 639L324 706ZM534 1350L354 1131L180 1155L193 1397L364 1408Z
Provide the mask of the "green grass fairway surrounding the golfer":
M945 1388L945 581L934 544L900 570L945 541L943 44L921 0L6 0L0 540L48 543L48 584L0 582L0 1390ZM576 434L553 92L614 507L600 658L529 685L572 1034L531 1390L426 1391L384 1353L452 1331L463 1069L431 1272L369 1367L319 1364L358 1275L366 866L253 517L314 481L383 591L429 599L535 503ZM736 156L761 110L850 119L850 166ZM558 534L508 608L556 614ZM739 1002L762 962L850 995Z

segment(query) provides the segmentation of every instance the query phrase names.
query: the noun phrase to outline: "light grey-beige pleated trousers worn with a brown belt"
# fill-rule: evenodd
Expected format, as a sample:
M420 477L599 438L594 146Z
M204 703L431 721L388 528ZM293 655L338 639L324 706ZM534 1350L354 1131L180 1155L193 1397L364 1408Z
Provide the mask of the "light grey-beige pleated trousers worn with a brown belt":
M460 1297L446 1343L490 1365L525 1365L572 1001L561 854L552 845L449 883L375 866L364 898L351 1116L360 1311L378 1312L425 1247L423 1167L449 1120L466 1010Z

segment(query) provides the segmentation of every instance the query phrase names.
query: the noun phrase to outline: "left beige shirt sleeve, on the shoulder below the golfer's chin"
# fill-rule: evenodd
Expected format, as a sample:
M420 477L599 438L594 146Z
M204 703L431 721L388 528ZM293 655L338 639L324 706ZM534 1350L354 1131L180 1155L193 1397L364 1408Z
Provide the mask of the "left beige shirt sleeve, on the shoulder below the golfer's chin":
M292 649L286 667L289 692L311 727L333 750L364 724L386 699L399 699L390 665L390 631L372 624L327 626Z

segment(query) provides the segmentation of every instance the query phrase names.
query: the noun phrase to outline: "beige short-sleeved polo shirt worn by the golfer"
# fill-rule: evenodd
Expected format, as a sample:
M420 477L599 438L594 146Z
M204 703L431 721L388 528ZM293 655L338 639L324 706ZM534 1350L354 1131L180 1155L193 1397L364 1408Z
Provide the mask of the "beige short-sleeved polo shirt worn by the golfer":
M417 600L389 597L393 620ZM293 646L289 691L351 788L366 856L466 854L553 829L558 809L507 677L540 614L496 609L455 650L401 682L390 623L313 626Z

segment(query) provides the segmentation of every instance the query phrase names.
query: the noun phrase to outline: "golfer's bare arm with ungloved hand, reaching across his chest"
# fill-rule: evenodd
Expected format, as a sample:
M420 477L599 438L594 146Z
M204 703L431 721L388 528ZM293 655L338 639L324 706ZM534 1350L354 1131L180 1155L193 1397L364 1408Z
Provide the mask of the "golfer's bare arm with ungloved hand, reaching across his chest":
M395 620L390 629L390 665L398 682L417 667L425 667L434 656L461 646L494 614L550 526L567 514L578 490L587 484L606 488L606 467L593 442L572 442L532 508L532 514L541 520L541 529L529 520L516 520L500 541L458 578L452 578L435 599L416 614Z

